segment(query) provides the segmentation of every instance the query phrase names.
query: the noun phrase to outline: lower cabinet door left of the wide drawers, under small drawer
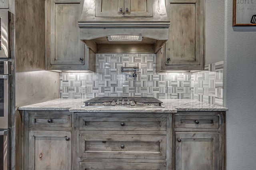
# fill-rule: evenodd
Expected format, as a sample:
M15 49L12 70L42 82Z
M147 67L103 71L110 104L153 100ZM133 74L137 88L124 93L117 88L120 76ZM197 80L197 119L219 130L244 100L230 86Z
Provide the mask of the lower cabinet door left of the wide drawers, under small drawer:
M71 132L29 131L29 170L70 170Z

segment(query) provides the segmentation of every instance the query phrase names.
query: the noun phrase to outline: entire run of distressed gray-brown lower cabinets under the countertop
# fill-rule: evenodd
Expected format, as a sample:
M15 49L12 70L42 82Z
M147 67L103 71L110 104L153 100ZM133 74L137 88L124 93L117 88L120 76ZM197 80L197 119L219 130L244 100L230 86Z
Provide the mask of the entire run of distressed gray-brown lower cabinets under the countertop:
M23 116L25 170L226 169L225 112Z

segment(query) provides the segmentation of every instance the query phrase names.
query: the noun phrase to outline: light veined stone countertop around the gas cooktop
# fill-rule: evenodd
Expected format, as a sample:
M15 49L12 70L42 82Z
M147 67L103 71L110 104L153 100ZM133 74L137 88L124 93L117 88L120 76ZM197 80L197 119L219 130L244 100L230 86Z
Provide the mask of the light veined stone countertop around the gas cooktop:
M19 110L105 112L105 113L177 113L177 111L228 111L228 108L192 99L159 99L164 108L154 107L82 107L87 99L55 99L19 107Z

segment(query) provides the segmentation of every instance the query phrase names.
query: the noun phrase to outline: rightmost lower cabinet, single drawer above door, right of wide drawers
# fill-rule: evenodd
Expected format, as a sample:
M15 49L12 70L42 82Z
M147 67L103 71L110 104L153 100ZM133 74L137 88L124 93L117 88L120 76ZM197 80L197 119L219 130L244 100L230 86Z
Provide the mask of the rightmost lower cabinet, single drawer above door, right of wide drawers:
M175 169L226 169L225 112L180 111L173 118Z

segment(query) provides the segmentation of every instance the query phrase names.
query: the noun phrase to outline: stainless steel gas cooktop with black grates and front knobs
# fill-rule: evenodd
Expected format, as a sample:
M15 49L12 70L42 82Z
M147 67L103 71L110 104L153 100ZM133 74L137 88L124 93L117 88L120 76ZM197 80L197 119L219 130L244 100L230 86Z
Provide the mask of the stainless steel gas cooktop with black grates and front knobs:
M94 97L82 107L164 107L155 97Z

